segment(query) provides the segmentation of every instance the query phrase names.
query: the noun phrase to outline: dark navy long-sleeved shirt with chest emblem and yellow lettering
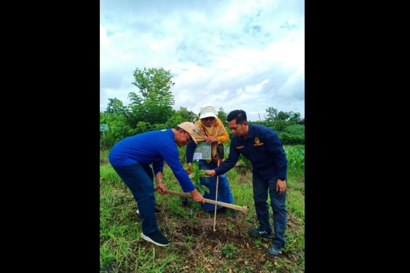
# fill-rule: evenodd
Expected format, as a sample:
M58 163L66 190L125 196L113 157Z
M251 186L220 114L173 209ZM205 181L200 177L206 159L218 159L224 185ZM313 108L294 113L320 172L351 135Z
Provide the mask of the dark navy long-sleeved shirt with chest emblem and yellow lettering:
M229 157L214 169L216 175L231 170L241 154L251 160L253 175L261 176L265 180L273 177L286 179L288 159L274 130L263 125L249 124L246 139L233 136Z

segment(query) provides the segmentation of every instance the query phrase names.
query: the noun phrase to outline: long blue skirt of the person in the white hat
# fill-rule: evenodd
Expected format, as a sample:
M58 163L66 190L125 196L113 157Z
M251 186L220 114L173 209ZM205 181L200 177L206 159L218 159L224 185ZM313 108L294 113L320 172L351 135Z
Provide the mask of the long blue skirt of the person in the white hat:
M213 170L217 167L214 161L207 163L206 160L199 160L199 170ZM199 178L201 185L207 186L209 188L209 193L205 192L203 198L215 200L216 195L216 175L213 177ZM227 174L219 175L218 179L218 200L223 203L232 204L234 197L231 192L231 187L229 186ZM205 211L213 211L215 209L214 204L204 203L201 204L201 208ZM220 205L217 205L216 208L221 208Z

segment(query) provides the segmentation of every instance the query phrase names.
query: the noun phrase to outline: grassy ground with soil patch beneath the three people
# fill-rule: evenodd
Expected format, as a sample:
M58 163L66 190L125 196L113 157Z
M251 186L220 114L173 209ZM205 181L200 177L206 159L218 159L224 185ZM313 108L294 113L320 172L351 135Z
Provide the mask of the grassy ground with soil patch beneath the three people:
M181 149L181 159L184 152ZM155 193L161 209L158 227L171 242L160 247L140 238L136 202L108 162L109 151L101 150L100 272L304 272L304 145L285 146L285 152L289 161L286 245L282 255L271 257L264 250L270 240L248 235L250 228L258 227L249 167L238 164L228 172L234 204L248 206L249 213L217 215L216 232L213 217L198 204L183 206L177 196ZM169 190L182 192L167 164L163 179Z

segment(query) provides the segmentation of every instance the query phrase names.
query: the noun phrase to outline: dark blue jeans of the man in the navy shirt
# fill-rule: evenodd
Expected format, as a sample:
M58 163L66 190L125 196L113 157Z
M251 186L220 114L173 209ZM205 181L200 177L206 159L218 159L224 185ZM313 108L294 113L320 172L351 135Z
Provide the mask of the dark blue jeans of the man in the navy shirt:
M280 244L282 247L285 245L285 229L286 229L286 191L283 194L279 194L276 191L277 177L265 180L260 175L253 175L252 187L253 187L253 199L255 201L256 215L260 224L259 229L265 230L269 234L272 233L272 227L269 222L269 206L268 190L271 197L271 206L273 210L273 227L275 230L275 237L272 239L273 244Z

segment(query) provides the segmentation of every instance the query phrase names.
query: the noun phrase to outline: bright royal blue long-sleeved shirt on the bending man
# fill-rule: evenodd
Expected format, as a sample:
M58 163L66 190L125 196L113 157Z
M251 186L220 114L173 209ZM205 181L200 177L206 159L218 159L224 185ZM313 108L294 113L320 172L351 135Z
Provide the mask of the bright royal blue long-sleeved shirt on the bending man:
M154 174L162 172L164 160L167 160L172 172L184 192L195 190L179 161L174 133L171 129L145 132L127 137L116 143L110 151L109 160L113 166L127 166L139 162L150 165Z

